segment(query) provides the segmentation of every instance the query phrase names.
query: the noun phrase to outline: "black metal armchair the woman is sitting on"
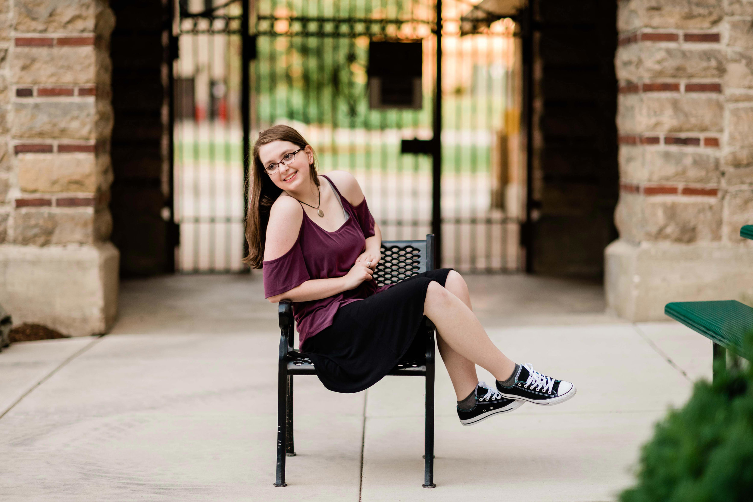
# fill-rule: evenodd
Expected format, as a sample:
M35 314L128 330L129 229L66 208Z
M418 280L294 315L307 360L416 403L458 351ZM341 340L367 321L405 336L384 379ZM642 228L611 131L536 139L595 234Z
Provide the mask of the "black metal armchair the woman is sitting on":
M413 275L434 270L434 235L425 241L383 241L382 259L374 271L377 285L394 284ZM400 361L388 375L426 377L424 488L434 488L434 324L424 319L425 356ZM285 457L294 457L293 376L316 375L311 360L293 348L295 321L290 300L279 303L280 346L277 381L277 474L275 486L285 482ZM420 335L419 335L420 336Z

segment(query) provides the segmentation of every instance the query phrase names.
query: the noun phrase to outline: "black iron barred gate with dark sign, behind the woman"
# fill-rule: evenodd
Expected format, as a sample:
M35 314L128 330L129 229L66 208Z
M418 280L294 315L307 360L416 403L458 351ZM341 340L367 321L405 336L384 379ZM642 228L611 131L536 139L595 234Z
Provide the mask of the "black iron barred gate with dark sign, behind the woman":
M179 3L178 269L242 269L243 152L276 123L358 178L384 239L431 232L443 266L520 269L514 23L441 1Z

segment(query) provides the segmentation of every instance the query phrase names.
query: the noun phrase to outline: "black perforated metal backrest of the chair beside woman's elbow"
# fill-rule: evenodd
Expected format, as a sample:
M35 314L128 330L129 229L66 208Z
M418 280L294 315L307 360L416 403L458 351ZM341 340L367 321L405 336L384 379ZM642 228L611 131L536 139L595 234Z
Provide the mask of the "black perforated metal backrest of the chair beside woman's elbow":
M382 259L374 271L377 286L434 270L434 234L423 241L382 241Z

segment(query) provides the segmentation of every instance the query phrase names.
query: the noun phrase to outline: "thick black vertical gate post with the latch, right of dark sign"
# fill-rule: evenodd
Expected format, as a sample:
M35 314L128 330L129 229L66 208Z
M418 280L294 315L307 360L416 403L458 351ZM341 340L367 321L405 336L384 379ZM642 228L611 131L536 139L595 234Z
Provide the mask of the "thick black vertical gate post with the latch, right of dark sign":
M436 263L442 266L442 0L437 0L437 74L434 84L434 158L431 162L431 232L436 241Z

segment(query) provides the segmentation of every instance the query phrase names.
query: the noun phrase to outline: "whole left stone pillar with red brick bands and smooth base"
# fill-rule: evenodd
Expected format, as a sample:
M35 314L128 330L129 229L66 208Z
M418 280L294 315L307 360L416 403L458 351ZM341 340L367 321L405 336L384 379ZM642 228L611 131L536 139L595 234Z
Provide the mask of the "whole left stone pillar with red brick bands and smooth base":
M17 323L104 333L117 309L108 242L109 37L102 0L5 0L0 24L0 303Z

